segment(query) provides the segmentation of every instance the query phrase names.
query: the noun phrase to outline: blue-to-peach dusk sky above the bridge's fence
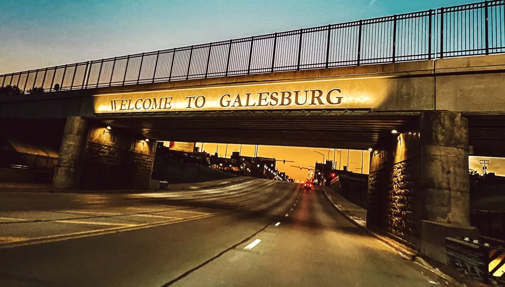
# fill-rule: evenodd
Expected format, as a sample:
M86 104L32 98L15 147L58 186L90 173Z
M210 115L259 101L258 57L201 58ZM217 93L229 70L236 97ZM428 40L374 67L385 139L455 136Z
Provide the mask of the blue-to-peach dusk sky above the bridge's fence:
M3 0L0 73L472 2Z

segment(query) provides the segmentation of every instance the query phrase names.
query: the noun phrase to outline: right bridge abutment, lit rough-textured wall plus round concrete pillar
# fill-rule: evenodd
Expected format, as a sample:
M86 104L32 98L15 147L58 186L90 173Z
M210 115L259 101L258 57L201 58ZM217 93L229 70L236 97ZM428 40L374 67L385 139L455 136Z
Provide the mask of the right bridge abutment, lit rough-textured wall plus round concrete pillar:
M378 143L371 156L367 225L445 260L446 236L471 236L468 120L422 112L407 131Z

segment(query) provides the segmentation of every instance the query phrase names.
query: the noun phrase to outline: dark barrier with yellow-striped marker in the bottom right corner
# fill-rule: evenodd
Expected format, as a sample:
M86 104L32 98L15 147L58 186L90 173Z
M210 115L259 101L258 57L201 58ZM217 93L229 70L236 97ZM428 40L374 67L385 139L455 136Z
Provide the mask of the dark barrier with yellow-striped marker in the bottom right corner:
M503 242L446 237L445 250L449 263L464 273L484 283L505 286Z

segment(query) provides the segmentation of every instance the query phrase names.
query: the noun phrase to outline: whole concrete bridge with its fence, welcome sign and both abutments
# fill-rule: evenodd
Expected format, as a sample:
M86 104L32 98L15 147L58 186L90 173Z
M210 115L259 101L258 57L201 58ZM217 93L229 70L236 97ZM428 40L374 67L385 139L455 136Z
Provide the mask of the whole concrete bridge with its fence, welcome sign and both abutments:
M27 131L66 122L54 177L64 189L145 188L153 139L372 148L367 224L425 250L438 244L426 234L475 231L469 154L505 155L504 5L2 75L23 88L9 87L0 119Z

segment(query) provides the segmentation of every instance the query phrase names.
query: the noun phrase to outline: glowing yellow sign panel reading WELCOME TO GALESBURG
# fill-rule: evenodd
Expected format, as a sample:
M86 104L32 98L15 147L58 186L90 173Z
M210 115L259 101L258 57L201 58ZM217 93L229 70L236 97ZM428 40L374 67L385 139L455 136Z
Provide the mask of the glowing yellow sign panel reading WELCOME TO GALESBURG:
M230 84L96 95L95 112L359 109L386 95L377 78Z

